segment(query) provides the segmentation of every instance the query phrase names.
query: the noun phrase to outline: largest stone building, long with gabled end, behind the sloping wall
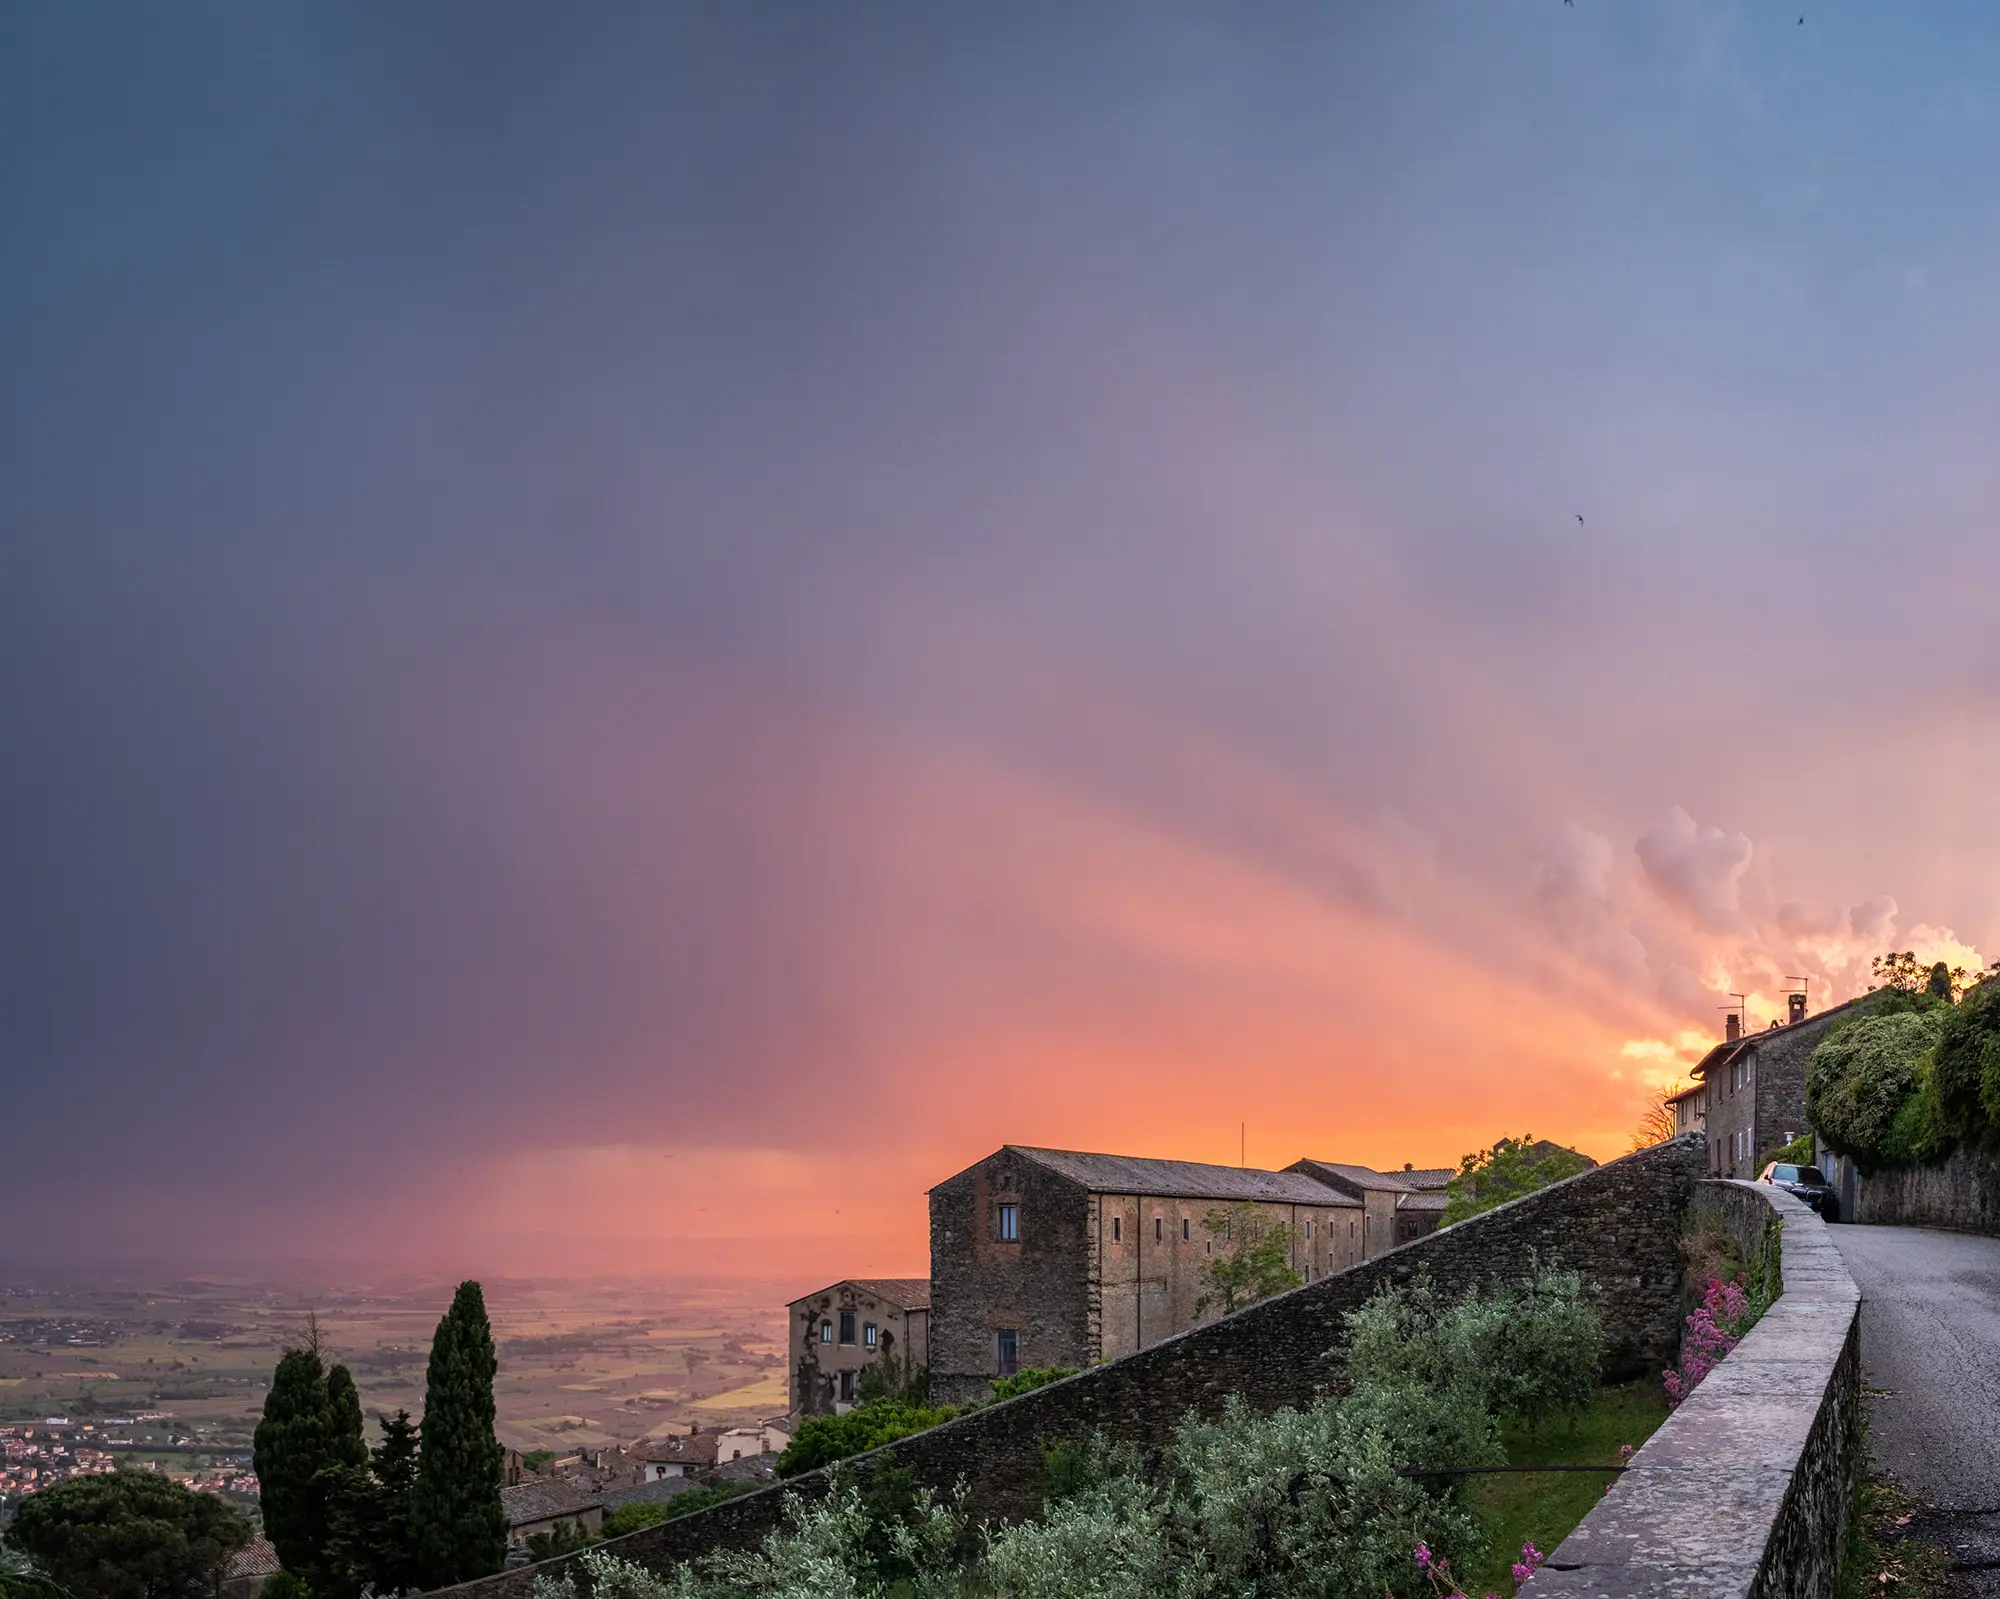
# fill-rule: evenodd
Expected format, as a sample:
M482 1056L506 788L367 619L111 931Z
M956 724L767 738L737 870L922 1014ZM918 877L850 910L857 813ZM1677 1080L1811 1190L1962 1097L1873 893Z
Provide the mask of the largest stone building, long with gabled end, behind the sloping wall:
M1306 1281L1362 1259L1362 1201L1298 1171L1006 1145L946 1177L930 1191L932 1399L1212 1319L1194 1305L1228 1239L1204 1223L1236 1203L1290 1229Z

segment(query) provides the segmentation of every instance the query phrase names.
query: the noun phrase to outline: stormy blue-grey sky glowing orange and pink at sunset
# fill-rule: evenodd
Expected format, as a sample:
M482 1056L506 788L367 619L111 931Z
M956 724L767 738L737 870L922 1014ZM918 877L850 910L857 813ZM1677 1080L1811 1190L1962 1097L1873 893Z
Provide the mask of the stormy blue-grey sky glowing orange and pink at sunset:
M2000 955L2000 10L1796 16L0 0L0 1257L922 1271Z

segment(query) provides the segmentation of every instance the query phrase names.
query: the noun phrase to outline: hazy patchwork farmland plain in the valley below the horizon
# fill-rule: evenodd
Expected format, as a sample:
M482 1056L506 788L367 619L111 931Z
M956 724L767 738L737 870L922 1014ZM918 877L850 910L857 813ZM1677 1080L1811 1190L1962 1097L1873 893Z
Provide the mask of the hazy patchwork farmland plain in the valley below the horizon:
M452 1283L0 1283L0 1423L164 1413L160 1433L248 1441L278 1353L316 1319L374 1415L422 1411ZM500 1437L518 1449L630 1441L786 1405L784 1285L496 1279Z

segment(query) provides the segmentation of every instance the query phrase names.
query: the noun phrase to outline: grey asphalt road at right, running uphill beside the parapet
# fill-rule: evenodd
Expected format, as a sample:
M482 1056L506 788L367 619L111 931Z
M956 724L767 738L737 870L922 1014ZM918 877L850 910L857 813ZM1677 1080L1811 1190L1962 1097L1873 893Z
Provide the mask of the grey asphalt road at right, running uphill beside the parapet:
M1974 1567L1966 1585L2000 1593L2000 1237L1826 1231L1862 1289L1876 1469L1936 1507L1922 1537Z

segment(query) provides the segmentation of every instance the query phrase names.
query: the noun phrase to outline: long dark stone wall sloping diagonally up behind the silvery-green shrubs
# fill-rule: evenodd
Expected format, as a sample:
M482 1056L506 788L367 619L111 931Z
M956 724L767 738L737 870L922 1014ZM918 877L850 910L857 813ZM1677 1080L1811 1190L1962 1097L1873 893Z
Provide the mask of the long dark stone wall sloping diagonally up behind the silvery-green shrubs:
M1158 1447L1190 1407L1216 1411L1232 1393L1258 1409L1312 1403L1330 1375L1328 1351L1344 1333L1344 1313L1418 1273L1452 1293L1520 1281L1536 1259L1574 1267L1604 1291L1608 1375L1658 1371L1678 1349L1680 1231L1700 1169L1698 1137L1626 1155L1352 1271L892 1443L860 1467L892 1457L942 1491L964 1479L978 1515L1030 1515L1042 1457L1060 1439L1102 1431ZM666 1569L708 1549L756 1543L778 1523L786 1495L824 1491L826 1477L808 1473L612 1547ZM524 1599L544 1569L466 1587L478 1589L476 1599Z

